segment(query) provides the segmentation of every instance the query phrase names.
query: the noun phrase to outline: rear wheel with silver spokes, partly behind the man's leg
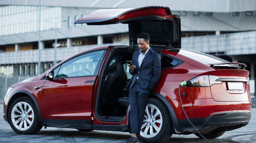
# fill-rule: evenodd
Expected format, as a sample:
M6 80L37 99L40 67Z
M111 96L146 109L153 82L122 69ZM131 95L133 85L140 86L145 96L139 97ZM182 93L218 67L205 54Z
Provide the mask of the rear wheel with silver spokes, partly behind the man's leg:
M154 110L152 110L151 108L153 108ZM149 112L153 111L153 117L152 114L147 113L147 110ZM160 114L157 115L155 114L156 112L160 112ZM149 117L148 115L151 116ZM148 119L148 117L152 117L152 119L150 120ZM160 120L162 120L162 123L158 123ZM160 131L157 131L158 127L160 128ZM152 134L150 128L152 128L151 131L153 131L154 134ZM145 117L143 125L141 127L139 140L145 143L162 143L166 142L173 133L174 129L171 121L171 116L166 105L157 98L149 98L147 107L145 109ZM153 135L153 137L149 137L150 135Z

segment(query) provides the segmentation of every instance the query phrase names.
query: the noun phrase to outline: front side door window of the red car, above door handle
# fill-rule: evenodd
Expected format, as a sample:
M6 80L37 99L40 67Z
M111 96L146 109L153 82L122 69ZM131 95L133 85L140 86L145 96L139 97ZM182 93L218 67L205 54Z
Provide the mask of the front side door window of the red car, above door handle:
M77 77L96 75L103 50L77 56L61 65L56 77Z

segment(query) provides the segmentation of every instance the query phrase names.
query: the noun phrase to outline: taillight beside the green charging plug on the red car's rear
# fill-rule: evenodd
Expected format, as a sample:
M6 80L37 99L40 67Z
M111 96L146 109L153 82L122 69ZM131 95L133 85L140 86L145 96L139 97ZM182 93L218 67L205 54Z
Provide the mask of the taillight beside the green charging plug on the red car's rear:
M189 80L191 87L210 87L213 84L222 84L221 81L216 81L219 79L216 75L200 75Z

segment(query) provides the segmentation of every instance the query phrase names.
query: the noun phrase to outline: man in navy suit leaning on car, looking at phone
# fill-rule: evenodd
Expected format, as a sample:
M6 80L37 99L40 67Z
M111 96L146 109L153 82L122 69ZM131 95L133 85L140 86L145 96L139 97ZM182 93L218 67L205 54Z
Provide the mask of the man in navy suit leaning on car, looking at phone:
M144 112L148 102L148 96L161 76L160 55L149 47L149 35L138 35L137 43L139 51L133 53L129 72L134 75L129 92L130 123L132 136L126 143L139 143L137 135L144 119Z

